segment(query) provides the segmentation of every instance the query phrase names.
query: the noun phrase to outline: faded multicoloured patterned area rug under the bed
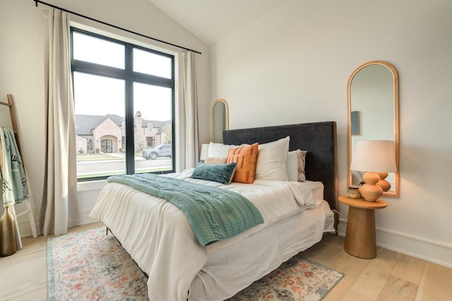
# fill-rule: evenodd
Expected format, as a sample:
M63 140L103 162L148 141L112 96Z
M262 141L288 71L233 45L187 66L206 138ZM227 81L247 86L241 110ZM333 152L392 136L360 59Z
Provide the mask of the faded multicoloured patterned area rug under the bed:
M297 255L230 300L321 300L341 278ZM47 239L47 300L148 300L147 281L103 227Z

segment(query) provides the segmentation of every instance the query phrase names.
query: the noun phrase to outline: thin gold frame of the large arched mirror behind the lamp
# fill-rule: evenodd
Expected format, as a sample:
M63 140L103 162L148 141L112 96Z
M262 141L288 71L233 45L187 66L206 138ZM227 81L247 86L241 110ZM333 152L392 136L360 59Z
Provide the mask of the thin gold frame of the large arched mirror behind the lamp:
M393 93L394 93L394 151L396 155L397 172L394 173L394 187L388 192L383 192L383 196L399 196L399 142L398 142L398 75L396 69L386 61L369 61L361 66L358 66L352 72L347 81L347 155L348 155L348 184L352 185L352 172L350 164L352 162L352 81L359 71L367 66L382 65L388 68L393 75ZM378 124L376 124L378 126ZM371 140L371 138L369 138Z

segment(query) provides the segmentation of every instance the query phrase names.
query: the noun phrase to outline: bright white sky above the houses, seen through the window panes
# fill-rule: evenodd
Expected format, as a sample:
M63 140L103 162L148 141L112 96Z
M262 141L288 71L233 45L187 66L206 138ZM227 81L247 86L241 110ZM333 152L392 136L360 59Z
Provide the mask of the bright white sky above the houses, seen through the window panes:
M124 69L124 45L95 37L73 34L75 59ZM171 78L171 59L141 49L133 50L133 71ZM74 72L76 114L125 116L125 81ZM156 85L133 84L133 112L143 119L167 121L172 118L172 91Z

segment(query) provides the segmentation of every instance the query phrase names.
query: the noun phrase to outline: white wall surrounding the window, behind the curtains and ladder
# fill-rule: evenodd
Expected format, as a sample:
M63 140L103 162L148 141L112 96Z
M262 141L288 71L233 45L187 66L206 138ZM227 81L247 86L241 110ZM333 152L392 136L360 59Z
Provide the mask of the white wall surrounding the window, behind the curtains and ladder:
M210 100L208 46L148 1L54 0L47 2L143 35L150 35L202 52L202 54L196 54L198 105L201 116L210 116L210 105L213 101ZM47 20L42 11L45 9L47 6L42 4L35 8L31 0L0 0L0 99L6 101L6 94L10 93L16 103L18 126L23 143L23 160L25 160L30 188L35 196L35 215L40 208L44 177L44 38L47 32ZM174 52L178 51L175 47L167 47L98 23L81 18L73 19L100 30L126 35ZM0 107L0 126L11 126L7 107L4 106ZM200 141L208 142L209 137L210 120L201 119ZM102 186L102 182L97 182L83 184L79 189L80 209L85 222L88 221L88 213ZM16 206L18 213L23 211L21 206ZM23 216L19 221L21 235L30 235L28 218Z

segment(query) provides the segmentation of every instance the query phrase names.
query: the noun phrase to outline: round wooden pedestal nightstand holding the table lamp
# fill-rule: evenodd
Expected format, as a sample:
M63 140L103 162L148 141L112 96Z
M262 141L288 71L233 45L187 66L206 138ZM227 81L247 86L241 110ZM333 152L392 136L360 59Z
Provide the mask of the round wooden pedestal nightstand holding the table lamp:
M388 204L380 199L365 201L339 196L340 203L348 208L345 252L359 258L371 259L376 256L375 209L383 209Z

